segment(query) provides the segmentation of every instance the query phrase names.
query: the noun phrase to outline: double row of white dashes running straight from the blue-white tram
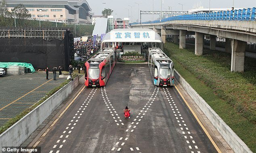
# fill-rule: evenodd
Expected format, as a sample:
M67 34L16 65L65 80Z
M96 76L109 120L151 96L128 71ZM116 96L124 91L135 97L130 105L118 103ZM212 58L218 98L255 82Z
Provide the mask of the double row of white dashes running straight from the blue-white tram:
M178 125L181 126L180 130L182 131L182 134L184 135L186 143L189 144L188 145L189 149L198 149L197 145L195 145L194 148L193 148L193 146L191 146L191 143L195 144L195 141L192 140L193 137L191 136L189 128L187 127L185 120L183 119L182 115L180 114L180 111L179 111L178 107L176 106L176 103L174 102L172 95L170 94L168 88L163 88L163 91L164 91L164 94L166 95L166 98L168 100L170 107L172 108L172 112L173 112L174 116L178 115L178 117L175 117L175 118L176 118L177 122L179 123ZM181 122L183 124L180 124ZM188 136L190 138L189 140L188 140ZM194 151L191 151L191 153L194 153ZM196 151L196 153L200 153L200 151Z

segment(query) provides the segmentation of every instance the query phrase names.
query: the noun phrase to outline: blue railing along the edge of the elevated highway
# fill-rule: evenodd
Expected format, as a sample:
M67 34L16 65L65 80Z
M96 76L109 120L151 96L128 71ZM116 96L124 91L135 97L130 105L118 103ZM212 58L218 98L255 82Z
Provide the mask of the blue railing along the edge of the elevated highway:
M161 23L171 20L239 20L239 21L255 21L255 7L253 8L243 8L239 10L227 10L227 11L219 11L219 12L209 12L209 13L196 13L196 14L186 14L186 15L178 15L172 16L169 18L164 18L162 20L154 20L147 22L136 22L130 23L130 25L134 24L152 24L152 23Z

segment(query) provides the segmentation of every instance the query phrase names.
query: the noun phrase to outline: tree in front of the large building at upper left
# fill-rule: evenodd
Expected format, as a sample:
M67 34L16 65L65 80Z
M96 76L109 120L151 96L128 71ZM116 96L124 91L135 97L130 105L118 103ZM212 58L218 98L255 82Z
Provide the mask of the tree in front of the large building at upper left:
M20 9L19 9L20 8ZM19 9L19 10L16 10ZM19 26L21 26L21 23L24 22L24 25L26 26L25 19L30 18L31 14L29 14L29 11L23 4L17 5L15 8L12 9L13 11L16 10L14 13L16 15L16 18L18 19Z

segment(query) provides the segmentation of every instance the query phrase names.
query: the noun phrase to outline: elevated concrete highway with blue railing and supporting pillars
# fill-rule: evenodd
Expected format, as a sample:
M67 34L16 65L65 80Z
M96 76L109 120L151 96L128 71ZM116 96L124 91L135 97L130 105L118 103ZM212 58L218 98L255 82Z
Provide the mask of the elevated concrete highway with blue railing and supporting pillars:
M256 43L255 8L172 16L132 23L130 28L153 29L164 42L167 35L174 35L176 42L179 37L180 49L185 49L186 35L195 35L195 55L203 54L205 35L210 35L210 49L215 49L216 37L225 38L226 51L232 54L231 71L243 71L246 44Z

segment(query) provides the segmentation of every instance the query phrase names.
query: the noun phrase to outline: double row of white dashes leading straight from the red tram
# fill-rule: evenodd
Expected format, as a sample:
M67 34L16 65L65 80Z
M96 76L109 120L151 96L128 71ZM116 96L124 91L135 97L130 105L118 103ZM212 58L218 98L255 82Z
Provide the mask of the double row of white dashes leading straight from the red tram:
M79 119L82 117L82 114L84 113L84 110L85 108L88 106L88 104L90 103L90 100L92 99L92 97L94 96L95 92L97 91L97 88L93 88L90 92L90 94L86 97L85 101L82 103L82 105L79 107L79 109L77 110L76 114L74 114L74 116L72 116L72 120L70 120L70 123L68 124L68 126L66 126L65 130L67 129L70 129L68 132L67 131L63 131L62 134L59 138L63 138L65 136L65 138L68 138L69 135L66 135L66 134L70 134L72 132L72 130L74 129L76 123L73 123L73 126L71 128L69 128L69 126L72 124L71 122L79 122ZM93 94L92 94L93 93ZM92 95L91 95L92 94ZM89 99L90 98L90 99ZM89 99L89 100L88 100ZM84 104L86 104L84 106ZM84 108L83 108L84 107ZM82 110L83 108L83 110ZM82 110L82 111L81 111ZM81 112L80 112L81 111ZM77 118L76 120L73 120ZM64 140L57 140L57 144L55 144L52 148L62 148L64 143L66 142L67 140L64 139ZM57 147L59 146L59 147ZM56 153L59 153L60 151L57 150ZM53 153L53 150L51 150L49 153Z

